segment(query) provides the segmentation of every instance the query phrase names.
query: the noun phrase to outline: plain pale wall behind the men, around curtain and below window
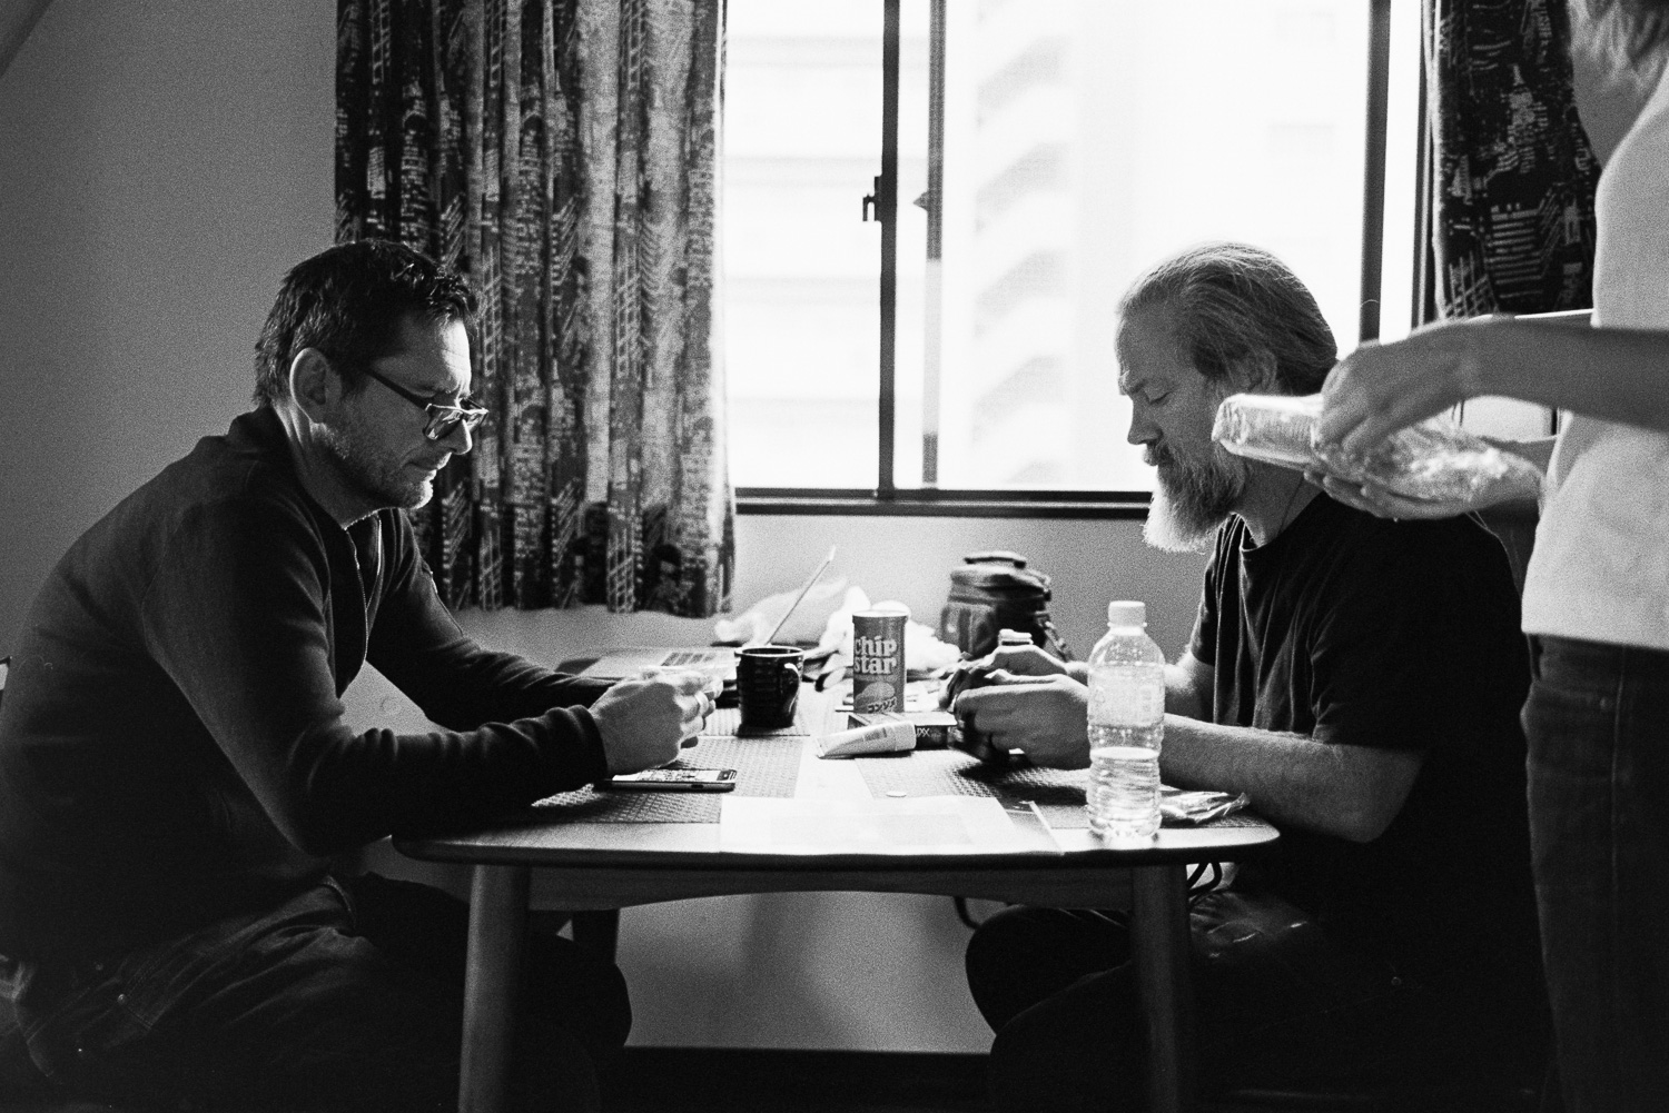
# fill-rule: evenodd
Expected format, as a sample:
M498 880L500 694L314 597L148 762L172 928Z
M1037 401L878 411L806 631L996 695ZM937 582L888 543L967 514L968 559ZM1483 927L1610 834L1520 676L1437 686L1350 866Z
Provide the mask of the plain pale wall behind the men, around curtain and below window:
M247 407L279 277L330 240L334 18L322 0L55 0L0 75L0 652L77 534ZM840 544L840 574L926 621L963 552L1016 549L1055 576L1080 652L1122 596L1148 601L1175 654L1200 572L1145 549L1133 522L749 516L736 537L741 606ZM464 619L552 661L711 629L596 611ZM416 714L376 676L352 706L367 721ZM631 909L634 1040L983 1050L965 936L941 898Z

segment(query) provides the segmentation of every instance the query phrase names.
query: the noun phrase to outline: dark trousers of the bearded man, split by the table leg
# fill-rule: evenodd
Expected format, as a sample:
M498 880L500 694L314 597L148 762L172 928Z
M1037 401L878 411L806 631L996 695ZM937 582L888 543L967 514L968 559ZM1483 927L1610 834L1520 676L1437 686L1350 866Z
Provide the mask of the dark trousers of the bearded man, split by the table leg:
M1404 981L1277 898L1208 893L1190 923L1203 1093L1409 1085L1522 1051L1522 1031L1480 1016L1487 1001ZM1147 1106L1123 914L998 913L968 944L968 986L996 1031L996 1108Z

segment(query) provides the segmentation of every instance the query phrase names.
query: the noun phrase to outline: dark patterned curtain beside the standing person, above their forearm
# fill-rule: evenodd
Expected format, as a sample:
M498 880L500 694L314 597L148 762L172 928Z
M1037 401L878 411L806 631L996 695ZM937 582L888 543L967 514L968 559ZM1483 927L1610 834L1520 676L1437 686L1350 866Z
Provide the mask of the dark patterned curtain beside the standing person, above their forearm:
M1564 0L1427 0L1439 317L1587 309L1599 162Z

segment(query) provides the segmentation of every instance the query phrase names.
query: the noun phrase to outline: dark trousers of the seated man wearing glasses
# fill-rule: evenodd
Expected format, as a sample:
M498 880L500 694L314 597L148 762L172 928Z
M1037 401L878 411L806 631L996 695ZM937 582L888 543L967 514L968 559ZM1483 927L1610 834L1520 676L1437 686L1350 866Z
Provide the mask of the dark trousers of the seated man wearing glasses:
M159 1108L457 1108L469 909L422 884L330 879L280 908L77 964L17 963L35 1065ZM567 939L529 939L512 1108L596 1110L631 1028L626 983Z

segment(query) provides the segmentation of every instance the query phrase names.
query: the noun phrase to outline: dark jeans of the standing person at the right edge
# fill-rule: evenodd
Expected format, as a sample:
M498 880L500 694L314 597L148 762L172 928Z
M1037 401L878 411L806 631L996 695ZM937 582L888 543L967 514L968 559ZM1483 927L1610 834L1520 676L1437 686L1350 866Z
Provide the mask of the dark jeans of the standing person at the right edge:
M1532 639L1530 853L1569 1113L1669 1110L1669 652Z

